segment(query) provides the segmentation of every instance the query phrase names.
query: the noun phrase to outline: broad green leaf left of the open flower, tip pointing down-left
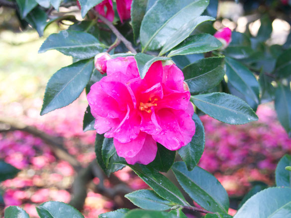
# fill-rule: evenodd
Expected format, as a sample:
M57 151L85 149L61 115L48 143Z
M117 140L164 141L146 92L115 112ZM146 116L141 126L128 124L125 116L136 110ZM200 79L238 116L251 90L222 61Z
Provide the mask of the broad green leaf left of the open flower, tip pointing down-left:
M86 87L93 67L93 60L83 60L57 71L46 86L40 115L75 101Z

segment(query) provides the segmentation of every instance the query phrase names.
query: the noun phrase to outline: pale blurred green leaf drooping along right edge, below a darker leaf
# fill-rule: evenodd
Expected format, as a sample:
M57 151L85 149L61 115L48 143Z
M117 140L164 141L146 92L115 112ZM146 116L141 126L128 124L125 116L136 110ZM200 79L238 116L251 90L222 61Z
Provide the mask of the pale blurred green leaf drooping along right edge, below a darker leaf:
M289 85L279 84L276 88L275 109L280 123L291 137L291 90Z

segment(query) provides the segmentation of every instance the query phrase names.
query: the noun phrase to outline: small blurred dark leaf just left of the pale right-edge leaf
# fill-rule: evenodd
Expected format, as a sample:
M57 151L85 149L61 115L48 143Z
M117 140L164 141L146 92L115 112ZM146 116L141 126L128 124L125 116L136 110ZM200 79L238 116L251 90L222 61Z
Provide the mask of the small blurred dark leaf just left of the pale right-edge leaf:
M260 73L259 84L261 87L261 103L270 102L275 98L275 88L272 85L273 78L266 75L264 72Z

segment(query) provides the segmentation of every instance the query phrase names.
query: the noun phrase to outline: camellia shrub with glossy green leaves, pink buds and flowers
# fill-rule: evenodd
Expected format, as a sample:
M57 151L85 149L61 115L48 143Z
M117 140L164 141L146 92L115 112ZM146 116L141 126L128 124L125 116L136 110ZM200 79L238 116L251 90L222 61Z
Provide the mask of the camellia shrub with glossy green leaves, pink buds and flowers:
M107 176L129 166L151 187L125 195L141 209L118 209L100 218L185 218L185 210L205 218L232 217L225 189L196 166L205 144L199 115L241 125L258 120L258 105L274 100L291 136L291 35L284 45L267 41L277 14L291 22L291 7L279 0L241 3L260 20L256 36L249 28L254 20L244 33L215 29L217 0L1 3L15 7L23 28L29 24L40 36L52 22L70 23L39 49L73 58L48 81L40 114L71 104L85 89L83 129L97 132L99 166ZM84 20L72 15L74 5ZM60 6L69 9L53 13ZM291 177L285 169L290 162L287 154L276 169L277 187L251 191L234 218L291 217ZM166 176L170 169L195 204ZM37 212L41 218L83 217L61 202L41 204ZM16 217L28 215L18 207L5 210L5 218Z

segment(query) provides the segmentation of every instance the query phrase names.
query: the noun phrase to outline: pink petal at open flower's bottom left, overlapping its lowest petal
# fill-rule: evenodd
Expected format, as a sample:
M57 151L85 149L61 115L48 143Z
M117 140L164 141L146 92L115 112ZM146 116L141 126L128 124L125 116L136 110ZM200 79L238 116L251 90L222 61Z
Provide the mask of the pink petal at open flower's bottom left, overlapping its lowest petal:
M140 132L139 135L128 143L120 143L115 138L113 139L116 152L119 156L128 158L134 157L142 148L146 139L146 133Z

